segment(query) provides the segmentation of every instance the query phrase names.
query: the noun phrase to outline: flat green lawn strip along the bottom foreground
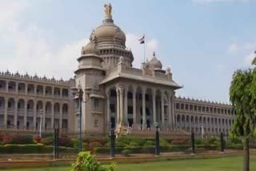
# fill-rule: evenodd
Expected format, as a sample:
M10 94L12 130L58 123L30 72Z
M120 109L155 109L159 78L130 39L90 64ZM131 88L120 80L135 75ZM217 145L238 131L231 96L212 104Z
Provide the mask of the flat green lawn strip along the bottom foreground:
M250 170L256 170L256 157L251 157ZM42 169L8 169L8 171L67 171L69 167ZM178 161L158 161L139 164L119 164L116 171L241 171L242 157L222 157L215 159L191 159ZM7 170L6 170L7 171Z

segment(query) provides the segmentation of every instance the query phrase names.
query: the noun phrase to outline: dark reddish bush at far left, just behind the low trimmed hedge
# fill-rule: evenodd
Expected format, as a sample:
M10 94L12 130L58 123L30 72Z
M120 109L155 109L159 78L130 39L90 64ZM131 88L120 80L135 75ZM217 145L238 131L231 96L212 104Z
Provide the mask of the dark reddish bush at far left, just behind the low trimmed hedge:
M2 137L2 144L34 144L32 135L4 135Z

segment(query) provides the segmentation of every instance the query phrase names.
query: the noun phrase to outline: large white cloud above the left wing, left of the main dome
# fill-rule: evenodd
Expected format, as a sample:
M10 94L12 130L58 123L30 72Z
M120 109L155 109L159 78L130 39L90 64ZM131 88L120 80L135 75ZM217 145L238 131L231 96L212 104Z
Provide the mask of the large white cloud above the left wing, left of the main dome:
M76 58L88 40L77 40L53 50L50 38L43 36L38 26L30 24L22 29L22 11L28 6L25 1L0 2L0 43L4 47L11 47L6 50L8 58L3 57L3 47L0 49L1 71L28 72L41 77L46 75L64 79L73 77L78 64Z

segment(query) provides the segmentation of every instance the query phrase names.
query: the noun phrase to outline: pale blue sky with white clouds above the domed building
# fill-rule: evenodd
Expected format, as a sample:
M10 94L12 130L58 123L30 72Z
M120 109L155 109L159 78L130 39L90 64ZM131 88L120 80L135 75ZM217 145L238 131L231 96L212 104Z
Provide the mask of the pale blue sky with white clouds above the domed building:
M153 51L170 67L178 96L229 102L235 70L250 66L256 50L256 0L109 0L126 33L133 66ZM76 59L102 24L100 0L0 0L0 71L69 79Z

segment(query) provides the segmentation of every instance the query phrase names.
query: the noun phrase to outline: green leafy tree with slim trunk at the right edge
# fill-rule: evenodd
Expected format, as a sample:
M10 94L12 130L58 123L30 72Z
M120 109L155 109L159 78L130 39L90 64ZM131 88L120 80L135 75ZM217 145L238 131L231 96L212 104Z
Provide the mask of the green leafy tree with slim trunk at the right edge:
M256 64L256 60L252 65ZM230 85L230 101L236 113L231 129L232 137L242 137L244 142L243 170L250 170L250 137L256 137L256 68L237 70Z

